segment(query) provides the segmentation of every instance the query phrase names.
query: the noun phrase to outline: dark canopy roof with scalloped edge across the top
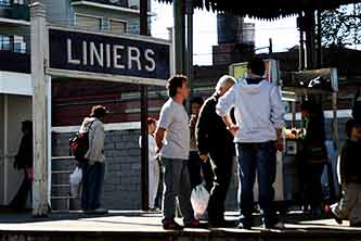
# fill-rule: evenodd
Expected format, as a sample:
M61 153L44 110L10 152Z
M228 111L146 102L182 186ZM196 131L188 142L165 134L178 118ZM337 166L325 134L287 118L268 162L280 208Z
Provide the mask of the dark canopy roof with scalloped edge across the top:
M157 0L171 3L173 0ZM185 0L183 0L185 1ZM240 16L273 20L307 10L326 10L361 0L191 0L194 8L228 12Z

